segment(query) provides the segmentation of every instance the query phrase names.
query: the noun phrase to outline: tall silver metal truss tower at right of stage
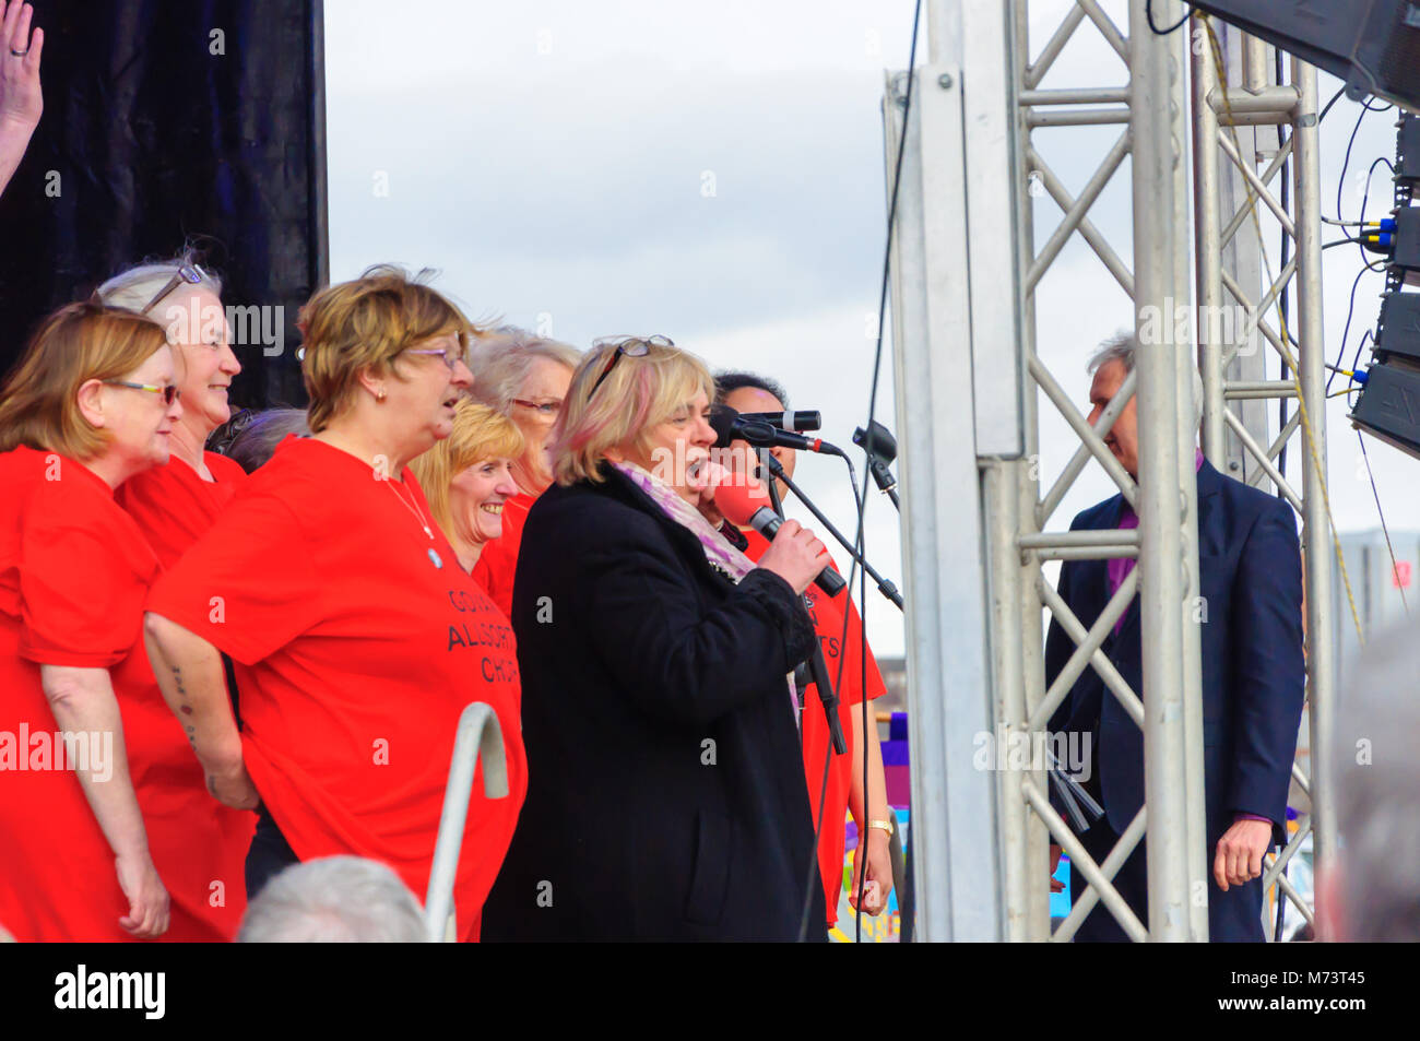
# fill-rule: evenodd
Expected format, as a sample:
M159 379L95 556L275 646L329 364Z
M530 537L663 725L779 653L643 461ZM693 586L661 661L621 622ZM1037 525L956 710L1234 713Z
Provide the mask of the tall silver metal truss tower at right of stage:
M1152 31L1149 7L1154 24L1169 27L1186 13L1177 0L1127 0L1123 26L1099 0L1076 0L1037 45L1035 3L929 0L929 58L916 72L907 119L902 77L889 77L883 105L889 173L900 142L905 149L892 290L917 929L927 940L1068 940L1103 903L1136 940L1206 940L1194 365L1203 375L1208 459L1240 480L1272 481L1301 514L1311 741L1322 747L1331 731L1316 72L1292 61L1288 82L1278 84L1267 48L1218 23L1211 36L1197 18L1167 36ZM1052 87L1049 74L1076 31L1103 37L1125 65L1123 85ZM1108 125L1120 132L1075 195L1037 131ZM1285 139L1277 128L1287 128ZM1126 158L1132 263L1089 216ZM1272 183L1288 168L1292 190L1279 200ZM1048 236L1034 223L1032 196L1042 192L1064 214ZM1258 207L1289 237L1275 273ZM1136 332L1147 344L1095 427L1037 354L1038 332L1056 324L1042 312L1038 288L1076 234L1100 261L1100 278L1133 301ZM1225 332L1198 321L1164 342L1143 335L1150 315L1179 307L1193 314L1194 285L1198 315L1235 304L1244 320ZM1274 317L1288 287L1292 328ZM1265 348L1252 349L1258 342ZM1262 355L1271 352L1282 359L1281 379L1265 379ZM1103 443L1132 395L1147 474L1139 484ZM1299 405L1275 437L1271 398ZM1039 473L1041 408L1058 412L1078 440L1052 474ZM1292 459L1302 463L1301 489L1275 463L1298 432ZM1137 531L1064 530L1068 517L1058 507L1092 459L1137 511ZM1139 565L1086 631L1042 564L1118 557ZM1147 697L1129 689L1100 649L1136 594ZM1076 643L1049 689L1044 611ZM1145 808L1099 863L1052 810L1037 758L998 768L1003 758L991 757L981 770L976 756L983 738L1037 747L1085 669L1099 673L1106 696L1145 737ZM1318 856L1331 855L1323 763L1315 757L1311 778L1294 768L1311 812L1265 875L1299 905L1279 872L1308 832ZM1054 934L1051 841L1089 882ZM1140 841L1147 922L1110 883ZM1312 919L1311 908L1302 912Z

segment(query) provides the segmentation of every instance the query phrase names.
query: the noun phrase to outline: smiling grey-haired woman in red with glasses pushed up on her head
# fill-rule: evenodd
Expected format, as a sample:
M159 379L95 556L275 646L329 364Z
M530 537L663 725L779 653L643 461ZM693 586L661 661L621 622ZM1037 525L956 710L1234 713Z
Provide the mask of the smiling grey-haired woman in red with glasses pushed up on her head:
M246 480L230 459L203 452L207 435L231 416L227 388L241 371L220 293L222 283L187 258L131 268L98 290L105 304L160 324L180 361L183 415L173 426L172 460L115 494L165 569L212 527ZM257 818L213 805L173 714L165 704L155 709L151 721L168 736L168 757L143 764L152 784L139 790L148 842L172 896L166 939L231 940L247 905L241 871Z

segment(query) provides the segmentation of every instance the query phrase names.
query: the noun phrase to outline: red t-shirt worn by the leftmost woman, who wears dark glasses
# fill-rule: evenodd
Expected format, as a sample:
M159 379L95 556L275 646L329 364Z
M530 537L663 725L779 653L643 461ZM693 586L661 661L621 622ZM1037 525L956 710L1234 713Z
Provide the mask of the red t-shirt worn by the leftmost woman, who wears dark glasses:
M108 484L71 459L7 452L0 486L0 925L26 942L131 940L118 925L129 903L114 851L70 756L112 777L122 740L145 822L160 797L148 767L175 743L192 758L143 649L158 558ZM61 756L40 665L106 669L122 737L98 734Z

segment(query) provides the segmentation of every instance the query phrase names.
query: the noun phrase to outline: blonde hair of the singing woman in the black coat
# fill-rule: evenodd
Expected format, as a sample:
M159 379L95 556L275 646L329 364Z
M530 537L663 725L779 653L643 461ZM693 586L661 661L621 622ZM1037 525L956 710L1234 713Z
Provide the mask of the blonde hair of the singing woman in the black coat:
M714 399L714 379L703 361L677 347L652 344L643 356L618 358L588 400L615 352L616 342L598 344L572 374L550 442L558 484L601 481L608 449L633 446L645 452L650 429L684 409L697 391Z

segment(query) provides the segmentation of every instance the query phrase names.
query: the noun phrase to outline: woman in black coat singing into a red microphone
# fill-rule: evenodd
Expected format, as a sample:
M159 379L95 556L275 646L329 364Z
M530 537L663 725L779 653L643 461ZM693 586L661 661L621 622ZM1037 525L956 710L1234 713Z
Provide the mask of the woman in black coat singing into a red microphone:
M785 521L755 567L701 518L713 393L663 337L572 378L514 582L528 794L484 940L794 940L805 895L824 922L790 676L826 551Z

